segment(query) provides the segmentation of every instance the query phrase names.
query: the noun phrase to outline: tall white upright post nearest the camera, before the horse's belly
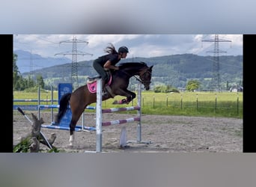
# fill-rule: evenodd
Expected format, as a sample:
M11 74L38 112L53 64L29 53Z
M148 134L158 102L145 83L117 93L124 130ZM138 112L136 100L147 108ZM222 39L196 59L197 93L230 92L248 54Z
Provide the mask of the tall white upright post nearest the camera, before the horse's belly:
M102 151L102 79L97 79L97 107L96 107L96 152Z

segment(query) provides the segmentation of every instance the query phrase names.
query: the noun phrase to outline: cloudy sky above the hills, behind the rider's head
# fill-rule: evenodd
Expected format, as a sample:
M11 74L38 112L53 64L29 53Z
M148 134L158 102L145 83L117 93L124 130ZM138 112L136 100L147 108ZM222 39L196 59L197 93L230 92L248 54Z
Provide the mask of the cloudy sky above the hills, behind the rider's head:
M127 58L150 58L163 55L194 54L213 55L215 34L13 34L13 50L24 50L42 57L67 57L73 49L73 39L78 61L93 60L105 55L104 49L112 43L116 49L127 46ZM218 34L219 55L243 55L243 34ZM206 42L203 40L210 40ZM212 52L210 52L212 51Z

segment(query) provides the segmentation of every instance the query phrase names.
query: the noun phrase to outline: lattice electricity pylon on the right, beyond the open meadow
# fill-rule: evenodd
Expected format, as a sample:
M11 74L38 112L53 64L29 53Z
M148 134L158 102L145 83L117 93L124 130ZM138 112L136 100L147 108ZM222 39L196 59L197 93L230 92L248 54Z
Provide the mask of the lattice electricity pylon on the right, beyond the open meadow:
M215 34L214 39L210 40L202 40L202 42L214 42L214 49L213 51L213 76L211 81L211 91L221 91L220 88L220 76L219 76L219 53L225 52L219 50L219 42L231 42L231 40L223 40L219 39L219 35Z

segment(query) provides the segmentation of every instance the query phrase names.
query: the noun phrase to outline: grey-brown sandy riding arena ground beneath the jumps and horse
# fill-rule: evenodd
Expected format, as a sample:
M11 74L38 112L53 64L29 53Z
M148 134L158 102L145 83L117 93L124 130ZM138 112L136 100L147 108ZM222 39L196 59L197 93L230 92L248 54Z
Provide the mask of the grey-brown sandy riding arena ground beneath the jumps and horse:
M31 112L26 111L32 119ZM40 114L46 124L51 121L51 113L43 111ZM103 114L103 121L121 120L135 117L135 114ZM86 113L85 126L95 126L95 114ZM81 124L81 119L79 123ZM126 127L127 140L136 140L137 122L121 125L103 126L103 152L106 153L243 153L243 120L224 117L184 117L184 116L141 116L142 141L151 144L127 144L120 148L122 126ZM31 123L13 111L13 144L31 130ZM70 147L67 130L42 128L46 137L52 133L57 135L55 147L64 153L86 153L96 150L96 132L75 132L75 144ZM48 150L40 144L42 150Z

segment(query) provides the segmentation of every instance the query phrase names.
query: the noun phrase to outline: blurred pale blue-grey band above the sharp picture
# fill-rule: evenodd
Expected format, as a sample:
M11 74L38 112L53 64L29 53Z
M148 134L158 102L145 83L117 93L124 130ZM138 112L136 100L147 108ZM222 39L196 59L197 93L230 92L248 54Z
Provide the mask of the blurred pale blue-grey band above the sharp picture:
M1 0L1 34L255 34L255 0Z

